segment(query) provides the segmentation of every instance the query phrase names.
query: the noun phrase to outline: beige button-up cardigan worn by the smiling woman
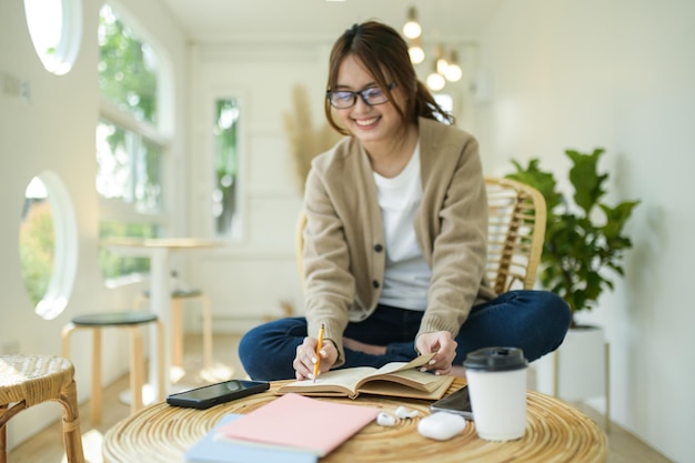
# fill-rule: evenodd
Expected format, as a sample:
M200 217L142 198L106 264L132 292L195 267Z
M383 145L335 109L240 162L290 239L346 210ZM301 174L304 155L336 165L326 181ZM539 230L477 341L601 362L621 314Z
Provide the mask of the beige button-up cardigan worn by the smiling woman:
M453 125L420 119L423 198L415 234L432 269L420 332L456 335L471 306L493 299L484 279L487 201L477 141ZM309 334L339 348L349 321L376 308L385 250L372 168L360 142L345 138L316 157L304 198L305 310Z

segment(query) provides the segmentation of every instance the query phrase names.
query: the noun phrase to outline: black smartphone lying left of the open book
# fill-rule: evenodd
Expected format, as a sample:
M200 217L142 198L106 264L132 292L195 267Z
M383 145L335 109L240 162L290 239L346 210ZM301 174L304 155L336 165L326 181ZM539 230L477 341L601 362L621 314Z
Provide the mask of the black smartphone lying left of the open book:
M258 394L269 389L270 383L264 381L230 380L169 394L167 403L174 406L204 410L210 409L212 405Z

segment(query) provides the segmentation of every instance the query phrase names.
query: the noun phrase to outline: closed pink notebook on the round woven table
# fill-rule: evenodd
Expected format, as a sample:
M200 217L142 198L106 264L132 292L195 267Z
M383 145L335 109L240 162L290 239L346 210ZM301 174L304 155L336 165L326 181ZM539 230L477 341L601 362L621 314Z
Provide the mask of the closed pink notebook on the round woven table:
M218 439L324 456L376 419L379 409L284 394L220 427Z

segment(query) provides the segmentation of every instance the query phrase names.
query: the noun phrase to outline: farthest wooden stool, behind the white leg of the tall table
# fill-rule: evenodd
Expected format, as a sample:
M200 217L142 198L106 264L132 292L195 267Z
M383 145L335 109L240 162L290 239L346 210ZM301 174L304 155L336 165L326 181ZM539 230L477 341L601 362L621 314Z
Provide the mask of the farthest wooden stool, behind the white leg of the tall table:
M150 299L150 292L143 291L135 300L135 309L141 309ZM212 310L210 298L201 290L174 290L171 292L171 364L183 366L183 301L199 300L203 313L203 368L212 369Z

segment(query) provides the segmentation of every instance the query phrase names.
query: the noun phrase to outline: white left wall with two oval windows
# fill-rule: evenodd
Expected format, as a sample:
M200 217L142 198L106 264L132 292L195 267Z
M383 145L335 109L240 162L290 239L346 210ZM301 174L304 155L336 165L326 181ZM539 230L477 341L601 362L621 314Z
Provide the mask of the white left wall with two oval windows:
M85 6L84 23L95 30L95 7ZM80 50L70 73L48 73L31 44L20 0L0 3L0 72L29 83L30 101L0 92L0 279L2 304L0 339L19 342L21 352L60 354L60 328L67 316L46 321L34 314L24 292L19 262L19 225L24 190L32 177L50 170L58 174L74 201L81 262L78 269L74 301L101 305L105 292L95 268L97 203L94 184L94 130L97 82L94 42ZM11 46L10 46L11 44ZM90 129L90 125L92 129ZM87 153L92 152L91 157ZM85 289L93 288L95 291ZM83 306L82 306L83 309ZM74 314L79 303L70 304ZM87 373L87 372L85 372ZM88 375L81 376L88 383ZM81 387L82 390L82 387ZM9 444L60 416L57 405L29 410L11 422Z

